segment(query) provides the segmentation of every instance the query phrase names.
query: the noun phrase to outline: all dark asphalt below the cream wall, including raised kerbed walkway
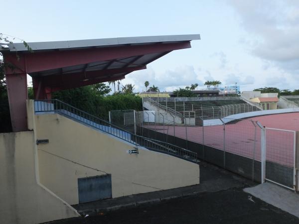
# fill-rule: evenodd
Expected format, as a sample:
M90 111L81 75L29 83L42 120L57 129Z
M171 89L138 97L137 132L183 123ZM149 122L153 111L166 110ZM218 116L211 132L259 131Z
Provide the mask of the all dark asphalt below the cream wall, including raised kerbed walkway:
M244 192L244 187L255 186L247 179L202 162L200 175L196 186L104 200L94 206L107 203L118 210L98 208L87 218L51 224L299 224L297 217ZM126 200L135 204L130 208Z

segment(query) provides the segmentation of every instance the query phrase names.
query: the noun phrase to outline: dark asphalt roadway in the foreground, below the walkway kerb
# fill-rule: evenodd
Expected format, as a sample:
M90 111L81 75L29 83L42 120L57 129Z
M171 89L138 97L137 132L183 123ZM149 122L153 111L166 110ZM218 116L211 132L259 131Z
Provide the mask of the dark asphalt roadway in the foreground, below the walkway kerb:
M233 188L51 224L299 224L299 219Z

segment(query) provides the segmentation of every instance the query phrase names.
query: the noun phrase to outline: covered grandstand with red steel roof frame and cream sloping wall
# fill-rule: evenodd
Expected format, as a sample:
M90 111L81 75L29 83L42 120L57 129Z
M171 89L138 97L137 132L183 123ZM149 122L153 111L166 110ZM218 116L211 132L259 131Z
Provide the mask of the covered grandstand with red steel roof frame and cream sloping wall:
M78 217L71 205L199 184L196 152L51 99L56 91L124 79L199 39L194 34L28 43L34 53L23 43L1 45L10 65L5 79L13 132L0 133L0 176L7 180L0 185L0 223ZM35 100L27 100L27 74Z

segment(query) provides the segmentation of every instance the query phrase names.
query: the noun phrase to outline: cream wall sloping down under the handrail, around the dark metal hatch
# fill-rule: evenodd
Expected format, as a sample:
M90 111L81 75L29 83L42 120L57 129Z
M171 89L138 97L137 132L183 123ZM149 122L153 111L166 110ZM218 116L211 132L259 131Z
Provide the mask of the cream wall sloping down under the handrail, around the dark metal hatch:
M112 176L113 198L199 184L197 164L139 149L58 114L35 115L40 181L69 204L78 203L77 179Z

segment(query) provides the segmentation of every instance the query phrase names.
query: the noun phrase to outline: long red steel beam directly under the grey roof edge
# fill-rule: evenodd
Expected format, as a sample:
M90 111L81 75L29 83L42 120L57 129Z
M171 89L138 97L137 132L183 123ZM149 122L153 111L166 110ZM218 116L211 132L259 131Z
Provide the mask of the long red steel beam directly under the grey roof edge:
M164 53L172 50L190 48L190 42L168 44L135 45L107 48L76 49L72 51L49 51L21 54L19 60L15 53L5 53L4 59L16 66L14 71L5 69L5 74L46 71L51 69L88 64L99 61L117 60L152 53Z

